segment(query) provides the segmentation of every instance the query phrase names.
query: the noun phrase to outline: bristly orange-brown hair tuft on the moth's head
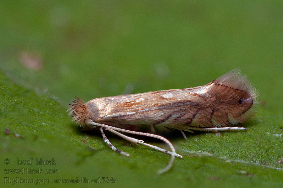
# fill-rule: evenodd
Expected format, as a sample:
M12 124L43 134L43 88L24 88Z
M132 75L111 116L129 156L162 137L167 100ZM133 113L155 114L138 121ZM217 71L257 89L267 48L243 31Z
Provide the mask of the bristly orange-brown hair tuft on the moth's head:
M78 125L84 125L84 121L86 118L86 103L80 99L80 97L76 96L76 99L69 104L71 107L69 108L69 115L72 118L72 121L76 122Z

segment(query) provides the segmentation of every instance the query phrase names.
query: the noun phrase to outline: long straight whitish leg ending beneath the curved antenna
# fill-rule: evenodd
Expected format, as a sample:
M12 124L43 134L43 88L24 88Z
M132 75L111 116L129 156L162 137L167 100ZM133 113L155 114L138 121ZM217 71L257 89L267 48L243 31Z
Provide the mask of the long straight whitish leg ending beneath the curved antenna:
M117 131L115 131L115 130L113 130L113 129L111 129L111 128L105 128L105 130L108 130L108 131L110 131L110 132L112 132L112 133L114 133L114 134L117 134L118 136L120 136L120 137L124 138L125 140L128 140L128 141L130 141L130 142L132 142L132 143L134 143L134 144L136 144L136 145L142 144L142 145L145 145L145 146L147 146L147 147L150 147L150 148L156 149L156 150L158 150L158 151L164 152L164 153L166 153L166 154L171 154L171 155L173 154L173 155L175 155L176 157L183 158L183 156L181 156L181 155L179 155L179 154L173 153L173 152L168 151L168 150L166 150L166 149L159 148L158 146L154 146L154 145L151 145L151 144L147 144L147 143L145 143L143 140L139 140L139 139L136 139L136 138L132 138L132 137L126 136L126 135L124 135L124 134L122 134L122 133L119 133L119 132L117 132Z

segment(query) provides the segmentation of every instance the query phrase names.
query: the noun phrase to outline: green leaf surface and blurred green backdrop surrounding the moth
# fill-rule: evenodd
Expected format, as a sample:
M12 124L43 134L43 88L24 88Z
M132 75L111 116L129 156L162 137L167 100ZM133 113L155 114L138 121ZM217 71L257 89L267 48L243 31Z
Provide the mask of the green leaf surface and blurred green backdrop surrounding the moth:
M283 186L282 1L1 1L0 17L1 184L112 177L116 183L72 185ZM121 156L66 112L75 96L200 86L236 67L260 93L258 113L239 125L248 131L167 135L184 158L163 175L156 172L170 156L106 132L130 154ZM4 171L22 168L58 174ZM36 186L50 185L71 184Z

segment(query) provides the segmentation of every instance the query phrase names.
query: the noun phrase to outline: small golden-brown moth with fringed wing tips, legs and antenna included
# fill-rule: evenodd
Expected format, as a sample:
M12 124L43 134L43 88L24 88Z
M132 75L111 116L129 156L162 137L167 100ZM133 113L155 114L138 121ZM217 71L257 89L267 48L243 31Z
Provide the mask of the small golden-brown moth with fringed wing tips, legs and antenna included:
M180 130L185 139L183 131L247 130L230 126L245 122L256 113L257 97L256 89L246 76L234 69L204 86L102 97L87 103L77 97L70 104L69 110L72 121L77 124L99 127L104 142L122 155L129 156L110 143L103 128L134 144L171 154L169 164L159 170L159 173L164 173L171 168L175 156L182 156L175 153L174 146L166 138L153 133L137 132L142 125ZM160 139L169 145L171 151L117 131Z

